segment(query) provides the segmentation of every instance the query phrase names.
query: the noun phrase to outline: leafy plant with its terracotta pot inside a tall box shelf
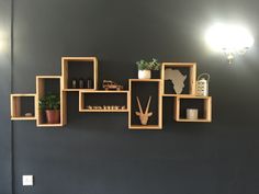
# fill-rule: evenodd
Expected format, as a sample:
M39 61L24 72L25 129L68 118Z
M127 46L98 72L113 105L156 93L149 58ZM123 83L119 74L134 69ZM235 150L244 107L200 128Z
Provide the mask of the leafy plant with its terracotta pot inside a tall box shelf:
M38 102L40 109L45 111L48 124L58 124L60 121L60 99L56 94L47 94Z

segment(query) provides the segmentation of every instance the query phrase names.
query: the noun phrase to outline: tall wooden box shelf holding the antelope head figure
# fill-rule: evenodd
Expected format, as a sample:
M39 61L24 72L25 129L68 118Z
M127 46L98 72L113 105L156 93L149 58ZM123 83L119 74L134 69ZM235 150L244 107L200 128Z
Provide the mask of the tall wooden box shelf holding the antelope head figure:
M160 79L130 79L130 100L128 100L128 128L130 129L161 129L162 128L162 105L161 105L161 80ZM139 98L143 113L146 112L149 96L151 96L147 125L142 125L136 112L139 106L136 100Z

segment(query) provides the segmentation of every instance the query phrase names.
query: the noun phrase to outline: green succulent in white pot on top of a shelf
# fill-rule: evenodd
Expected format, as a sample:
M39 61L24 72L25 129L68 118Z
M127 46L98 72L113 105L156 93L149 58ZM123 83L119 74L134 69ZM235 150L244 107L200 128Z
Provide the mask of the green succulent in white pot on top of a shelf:
M151 61L139 60L136 62L138 68L138 79L150 79L151 70L159 70L160 64L157 59L153 58Z

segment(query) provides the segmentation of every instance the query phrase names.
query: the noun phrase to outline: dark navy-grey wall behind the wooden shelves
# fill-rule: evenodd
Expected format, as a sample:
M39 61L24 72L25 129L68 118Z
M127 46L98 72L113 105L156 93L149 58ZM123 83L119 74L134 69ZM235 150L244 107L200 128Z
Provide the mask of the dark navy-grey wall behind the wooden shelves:
M78 113L78 95L69 93L66 127L15 122L11 141L5 111L0 193L10 193L11 178L15 194L258 193L258 8L257 0L14 0L15 93L35 92L36 75L60 75L61 56L97 56L100 81L124 84L142 58L196 61L212 77L213 123L174 123L166 99L164 130L132 132L126 114ZM205 46L204 31L216 21L240 21L254 33L254 48L235 65ZM0 71L3 110L10 67ZM22 187L22 174L35 175L35 186Z

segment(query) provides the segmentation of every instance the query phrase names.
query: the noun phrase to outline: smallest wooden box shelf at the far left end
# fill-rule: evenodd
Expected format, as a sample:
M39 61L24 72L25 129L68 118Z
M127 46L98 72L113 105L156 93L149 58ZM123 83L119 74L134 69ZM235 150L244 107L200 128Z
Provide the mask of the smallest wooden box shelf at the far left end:
M11 94L11 119L30 121L35 116L35 94Z

